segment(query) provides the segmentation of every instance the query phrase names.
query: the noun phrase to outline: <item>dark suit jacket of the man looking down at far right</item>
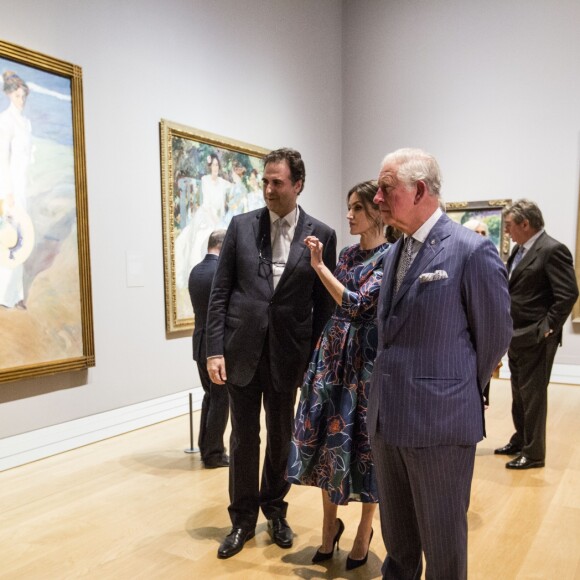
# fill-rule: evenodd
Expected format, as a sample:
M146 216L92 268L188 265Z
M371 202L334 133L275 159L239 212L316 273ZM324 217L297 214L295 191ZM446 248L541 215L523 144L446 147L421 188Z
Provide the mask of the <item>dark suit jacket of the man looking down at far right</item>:
M519 249L515 246L508 269ZM511 273L512 346L538 344L552 329L561 338L562 326L578 298L578 285L568 248L543 232Z

